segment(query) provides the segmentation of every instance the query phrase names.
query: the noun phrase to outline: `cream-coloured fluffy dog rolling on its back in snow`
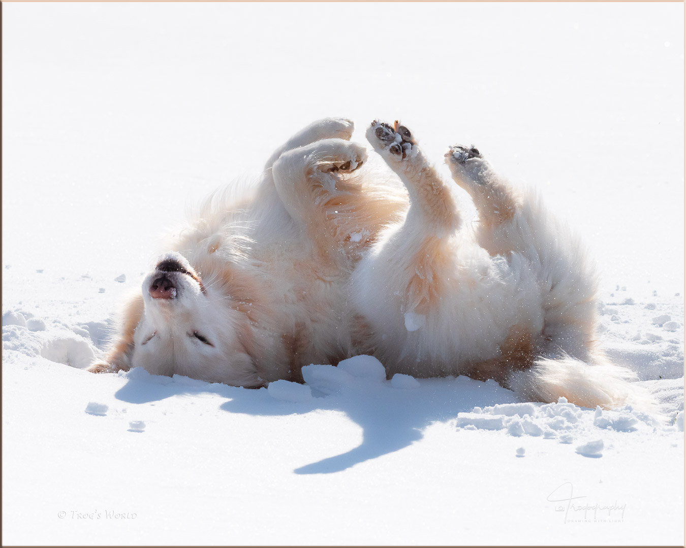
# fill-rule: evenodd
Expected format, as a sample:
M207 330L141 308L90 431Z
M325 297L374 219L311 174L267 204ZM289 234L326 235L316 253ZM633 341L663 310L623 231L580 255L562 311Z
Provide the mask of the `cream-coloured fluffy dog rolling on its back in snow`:
M593 265L537 197L453 146L445 161L479 216L464 227L407 127L367 130L395 175L368 169L352 132L317 121L274 152L252 195L206 201L90 371L259 387L366 353L389 378L469 375L534 401L625 401L630 373L595 343Z

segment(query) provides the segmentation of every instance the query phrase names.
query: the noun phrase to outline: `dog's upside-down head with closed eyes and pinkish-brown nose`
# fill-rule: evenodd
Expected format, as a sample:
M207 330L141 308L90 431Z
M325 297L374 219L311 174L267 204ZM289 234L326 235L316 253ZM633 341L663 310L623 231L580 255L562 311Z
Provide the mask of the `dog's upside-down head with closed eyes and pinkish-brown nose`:
M143 316L131 366L233 386L261 386L246 349L249 320L220 284L203 284L180 253L167 253L143 280Z

